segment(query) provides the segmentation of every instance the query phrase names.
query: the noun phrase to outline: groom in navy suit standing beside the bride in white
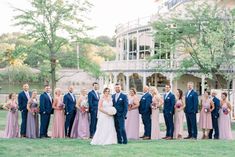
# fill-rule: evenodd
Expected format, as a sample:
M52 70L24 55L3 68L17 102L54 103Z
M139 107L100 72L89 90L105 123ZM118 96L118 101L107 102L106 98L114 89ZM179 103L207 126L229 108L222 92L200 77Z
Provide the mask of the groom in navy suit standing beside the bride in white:
M112 96L113 106L116 108L117 113L114 116L115 129L117 132L118 144L127 144L125 119L128 110L127 96L121 93L121 85L115 84L116 94Z

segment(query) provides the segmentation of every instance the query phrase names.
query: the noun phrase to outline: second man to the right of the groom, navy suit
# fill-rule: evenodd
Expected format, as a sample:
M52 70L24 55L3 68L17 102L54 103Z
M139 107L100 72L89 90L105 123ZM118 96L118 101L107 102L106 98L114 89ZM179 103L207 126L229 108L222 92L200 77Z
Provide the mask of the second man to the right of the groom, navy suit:
M175 95L171 92L171 85L165 86L163 115L166 124L166 136L163 139L172 140L174 133L173 114L175 106Z

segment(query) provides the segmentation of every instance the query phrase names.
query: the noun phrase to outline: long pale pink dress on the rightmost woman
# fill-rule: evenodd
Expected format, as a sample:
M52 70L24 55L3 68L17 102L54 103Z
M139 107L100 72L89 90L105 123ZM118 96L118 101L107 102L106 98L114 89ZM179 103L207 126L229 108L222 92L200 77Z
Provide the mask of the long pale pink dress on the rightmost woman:
M224 114L223 109L228 109L227 103L222 104L219 114L219 139L232 140L231 119L229 114Z

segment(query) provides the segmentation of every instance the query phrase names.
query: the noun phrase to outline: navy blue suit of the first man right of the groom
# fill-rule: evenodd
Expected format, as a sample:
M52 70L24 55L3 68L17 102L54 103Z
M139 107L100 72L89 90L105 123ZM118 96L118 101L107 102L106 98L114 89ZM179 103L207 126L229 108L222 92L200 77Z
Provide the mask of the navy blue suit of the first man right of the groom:
M144 123L144 136L147 137L151 137L151 104L151 94L145 93L140 99L139 113L141 114Z

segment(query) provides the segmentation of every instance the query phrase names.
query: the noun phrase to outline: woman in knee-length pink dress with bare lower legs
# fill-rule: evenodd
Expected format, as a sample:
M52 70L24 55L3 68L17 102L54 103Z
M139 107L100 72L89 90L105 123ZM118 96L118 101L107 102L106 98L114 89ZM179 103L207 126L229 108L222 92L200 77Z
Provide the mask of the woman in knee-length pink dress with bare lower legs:
M212 129L211 112L214 110L215 106L209 96L210 93L205 91L201 100L202 108L199 117L199 128L201 128L203 132L202 139L208 139L208 134L210 129Z

